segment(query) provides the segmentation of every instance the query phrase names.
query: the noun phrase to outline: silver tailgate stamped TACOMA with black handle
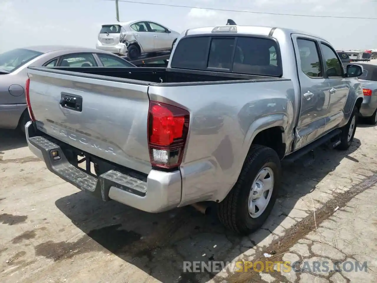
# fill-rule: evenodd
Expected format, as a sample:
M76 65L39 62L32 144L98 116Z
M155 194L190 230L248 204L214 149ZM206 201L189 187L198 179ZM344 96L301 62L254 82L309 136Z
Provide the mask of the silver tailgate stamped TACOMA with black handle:
M97 157L150 172L147 82L40 68L29 68L28 75L40 131Z

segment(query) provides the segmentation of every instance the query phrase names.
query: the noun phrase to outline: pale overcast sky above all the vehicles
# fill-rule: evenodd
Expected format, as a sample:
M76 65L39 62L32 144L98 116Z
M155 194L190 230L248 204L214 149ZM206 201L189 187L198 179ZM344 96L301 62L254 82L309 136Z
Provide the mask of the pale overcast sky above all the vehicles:
M141 0L204 8L282 14L377 18L377 0ZM294 28L317 34L336 49L377 48L377 20L294 17L119 3L121 21L153 20L182 32L187 28L238 25ZM0 0L0 52L30 45L95 48L103 23L115 23L115 2L104 0Z

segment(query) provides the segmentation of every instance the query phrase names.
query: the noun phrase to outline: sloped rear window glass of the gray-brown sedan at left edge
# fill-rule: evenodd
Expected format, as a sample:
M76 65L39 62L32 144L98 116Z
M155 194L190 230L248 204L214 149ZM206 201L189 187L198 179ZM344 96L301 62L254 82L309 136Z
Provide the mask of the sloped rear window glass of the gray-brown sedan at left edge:
M42 52L23 48L4 52L0 54L0 71L7 73L13 72L22 65L25 65L30 60L42 54Z

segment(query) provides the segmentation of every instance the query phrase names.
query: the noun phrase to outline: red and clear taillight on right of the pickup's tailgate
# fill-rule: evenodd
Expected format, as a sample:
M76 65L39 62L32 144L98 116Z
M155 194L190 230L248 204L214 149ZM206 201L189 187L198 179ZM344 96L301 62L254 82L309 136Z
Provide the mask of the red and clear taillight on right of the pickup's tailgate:
M148 144L152 166L175 168L181 165L190 113L177 106L151 101L148 115Z

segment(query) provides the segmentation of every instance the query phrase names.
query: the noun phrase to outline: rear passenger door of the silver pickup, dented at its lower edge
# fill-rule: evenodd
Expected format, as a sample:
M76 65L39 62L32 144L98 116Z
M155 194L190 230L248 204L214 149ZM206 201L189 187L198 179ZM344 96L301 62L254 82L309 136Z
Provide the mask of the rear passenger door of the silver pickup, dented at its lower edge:
M319 42L316 38L292 35L300 80L301 111L294 150L319 138L326 126L329 84L323 77Z

